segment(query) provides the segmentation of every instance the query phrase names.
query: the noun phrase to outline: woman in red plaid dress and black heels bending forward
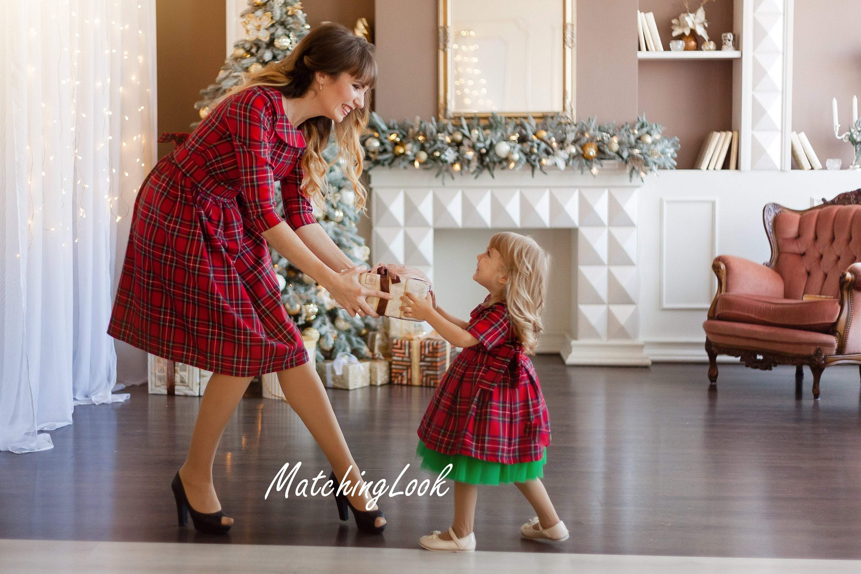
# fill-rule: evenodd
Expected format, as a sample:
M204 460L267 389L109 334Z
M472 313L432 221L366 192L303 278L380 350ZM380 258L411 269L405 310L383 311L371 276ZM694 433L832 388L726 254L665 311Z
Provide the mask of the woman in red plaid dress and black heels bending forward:
M277 373L288 403L338 478L362 483L325 388L281 302L269 245L329 290L350 317L377 317L361 267L317 225L309 200L323 194L323 150L332 122L344 172L359 182L359 136L376 77L374 46L337 24L308 34L214 102L206 119L162 158L141 186L108 334L153 355L214 374L201 398L189 455L174 477L180 525L224 533L232 518L215 495L215 450L251 378ZM281 181L283 221L274 208ZM335 484L338 487L337 481ZM337 497L343 520L379 533L386 519L367 493Z

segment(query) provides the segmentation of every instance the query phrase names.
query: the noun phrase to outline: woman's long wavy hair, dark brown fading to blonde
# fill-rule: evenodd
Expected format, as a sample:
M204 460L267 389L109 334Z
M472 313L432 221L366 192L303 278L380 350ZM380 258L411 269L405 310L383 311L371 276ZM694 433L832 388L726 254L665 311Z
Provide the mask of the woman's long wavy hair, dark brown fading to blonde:
M269 62L262 70L243 74L243 83L216 99L211 108L214 109L226 97L252 86L271 86L288 98L305 96L309 89L316 93L318 83L315 74L318 71L336 79L346 71L355 76L358 83L373 87L377 75L374 45L340 24L322 24L307 34L287 58ZM307 198L322 201L328 188L326 170L338 160L344 160L342 169L356 192L356 208L361 210L364 207L368 192L359 180L364 158L359 138L368 126L369 96L369 92L366 93L363 108L353 109L344 120L335 124L338 155L331 163L325 161L323 151L329 145L334 122L321 115L296 127L302 131L306 141L301 190Z

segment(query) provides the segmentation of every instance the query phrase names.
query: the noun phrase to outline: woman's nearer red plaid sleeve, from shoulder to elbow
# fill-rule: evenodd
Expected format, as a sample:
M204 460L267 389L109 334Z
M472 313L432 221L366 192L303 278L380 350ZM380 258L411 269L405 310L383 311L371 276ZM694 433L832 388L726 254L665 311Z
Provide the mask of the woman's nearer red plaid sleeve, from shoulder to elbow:
M275 174L269 164L275 137L269 100L255 89L234 96L226 110L236 152L244 219L262 233L283 221L275 210Z

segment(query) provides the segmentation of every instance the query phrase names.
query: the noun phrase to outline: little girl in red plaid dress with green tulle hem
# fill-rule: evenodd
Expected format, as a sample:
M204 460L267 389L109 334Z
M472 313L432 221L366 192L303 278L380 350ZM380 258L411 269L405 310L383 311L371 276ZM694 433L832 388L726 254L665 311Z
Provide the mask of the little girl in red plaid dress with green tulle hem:
M532 238L503 231L478 256L474 281L490 294L462 321L434 306L431 296L406 293L406 317L427 321L463 351L443 375L418 428L422 468L455 481L455 520L449 531L422 536L428 550L472 552L478 485L513 482L537 516L520 527L525 538L566 540L568 530L541 478L550 444L550 418L533 354L542 330L549 256Z

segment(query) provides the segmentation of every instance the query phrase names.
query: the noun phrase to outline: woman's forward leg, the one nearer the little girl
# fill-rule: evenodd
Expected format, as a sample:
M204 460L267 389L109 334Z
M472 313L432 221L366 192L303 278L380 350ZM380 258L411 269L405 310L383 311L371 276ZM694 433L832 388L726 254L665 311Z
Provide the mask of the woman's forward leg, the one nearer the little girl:
M358 492L362 489L361 485L364 484L361 469L350 454L350 448L347 447L347 441L344 440L338 419L335 418L335 412L331 409L329 396L325 392L325 386L320 381L313 362L308 361L299 367L279 372L278 383L281 385L281 390L284 397L287 398L288 404L302 419L302 423L305 423L326 459L329 460L331 469L335 471L338 480L344 478L344 473L350 466L353 466L350 474L347 475L347 479L350 480L350 490L353 491L352 485L356 485L356 483L359 483L360 486L354 491L354 495L348 496L348 498L353 508L364 510L365 504L372 497L367 492L361 497L358 496ZM371 507L372 510L376 508L376 505ZM385 523L386 519L380 516L377 517L375 526L381 527Z

